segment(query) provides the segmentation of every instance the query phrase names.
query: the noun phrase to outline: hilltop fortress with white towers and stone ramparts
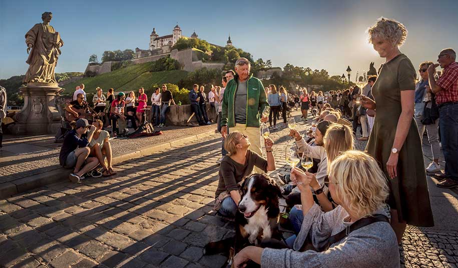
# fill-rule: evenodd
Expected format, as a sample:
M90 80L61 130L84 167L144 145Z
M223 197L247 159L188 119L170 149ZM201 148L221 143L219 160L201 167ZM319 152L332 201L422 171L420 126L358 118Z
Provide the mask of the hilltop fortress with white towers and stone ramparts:
M187 37L182 35L181 27L178 25L173 27L172 34L159 36L156 32L156 28L153 28L153 31L150 34L150 42L148 49L135 48L135 58L132 59L134 64L145 63L150 61L156 61L159 58L170 56L180 62L183 66L183 70L194 71L203 67L212 68L212 69L221 69L225 62L202 62L203 52L194 49L187 48L183 50L173 49L172 46L180 39L181 37ZM194 31L191 34L191 37L187 38L198 38L197 33ZM214 44L216 45L216 44ZM226 46L232 45L231 37L229 36ZM219 45L216 45L219 46ZM86 67L85 73L87 71L92 71L97 74L110 72L111 66L115 61L106 61L101 64L90 65Z

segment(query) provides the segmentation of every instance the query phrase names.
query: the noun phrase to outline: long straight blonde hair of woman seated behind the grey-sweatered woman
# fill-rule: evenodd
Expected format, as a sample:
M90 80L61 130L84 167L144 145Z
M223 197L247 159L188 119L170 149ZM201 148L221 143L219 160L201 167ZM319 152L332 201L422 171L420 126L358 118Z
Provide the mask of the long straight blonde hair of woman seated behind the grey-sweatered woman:
M334 123L329 126L324 135L324 150L326 151L328 169L330 163L340 153L352 150L353 147L353 131L348 125Z

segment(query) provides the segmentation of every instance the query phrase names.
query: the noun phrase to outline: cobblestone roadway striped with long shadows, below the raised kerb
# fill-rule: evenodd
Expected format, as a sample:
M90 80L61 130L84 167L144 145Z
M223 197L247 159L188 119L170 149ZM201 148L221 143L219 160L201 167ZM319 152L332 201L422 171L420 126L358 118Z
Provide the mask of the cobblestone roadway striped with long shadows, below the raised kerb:
M287 133L271 135L275 172L289 170ZM221 266L224 256L202 253L206 242L234 229L211 208L220 142L214 134L120 163L113 177L50 184L0 200L0 266ZM456 219L456 210L450 217ZM456 267L458 231L408 226L400 252L405 267Z

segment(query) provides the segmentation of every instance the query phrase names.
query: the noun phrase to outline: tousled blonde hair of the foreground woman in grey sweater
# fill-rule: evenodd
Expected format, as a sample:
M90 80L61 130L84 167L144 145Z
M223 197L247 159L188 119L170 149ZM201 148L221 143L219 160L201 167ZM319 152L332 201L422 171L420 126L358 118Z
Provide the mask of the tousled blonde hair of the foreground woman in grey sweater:
M342 204L358 217L374 214L388 197L387 180L372 156L349 150L331 163L329 178Z

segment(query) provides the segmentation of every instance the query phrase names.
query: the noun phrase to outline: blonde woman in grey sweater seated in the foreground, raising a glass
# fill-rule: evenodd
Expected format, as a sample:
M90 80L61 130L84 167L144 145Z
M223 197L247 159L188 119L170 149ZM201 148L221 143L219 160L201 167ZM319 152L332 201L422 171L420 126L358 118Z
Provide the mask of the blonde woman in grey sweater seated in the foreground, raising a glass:
M329 238L356 220L374 214L389 216L384 200L388 196L386 179L377 162L368 154L349 150L337 157L325 180L332 198L339 204L323 212L313 201L311 174L295 168L291 179L301 188L304 221L293 249L248 246L235 257L235 267L253 260L261 267L399 267L399 249L390 224L378 221L350 232L326 248ZM307 235L320 251L298 252Z

